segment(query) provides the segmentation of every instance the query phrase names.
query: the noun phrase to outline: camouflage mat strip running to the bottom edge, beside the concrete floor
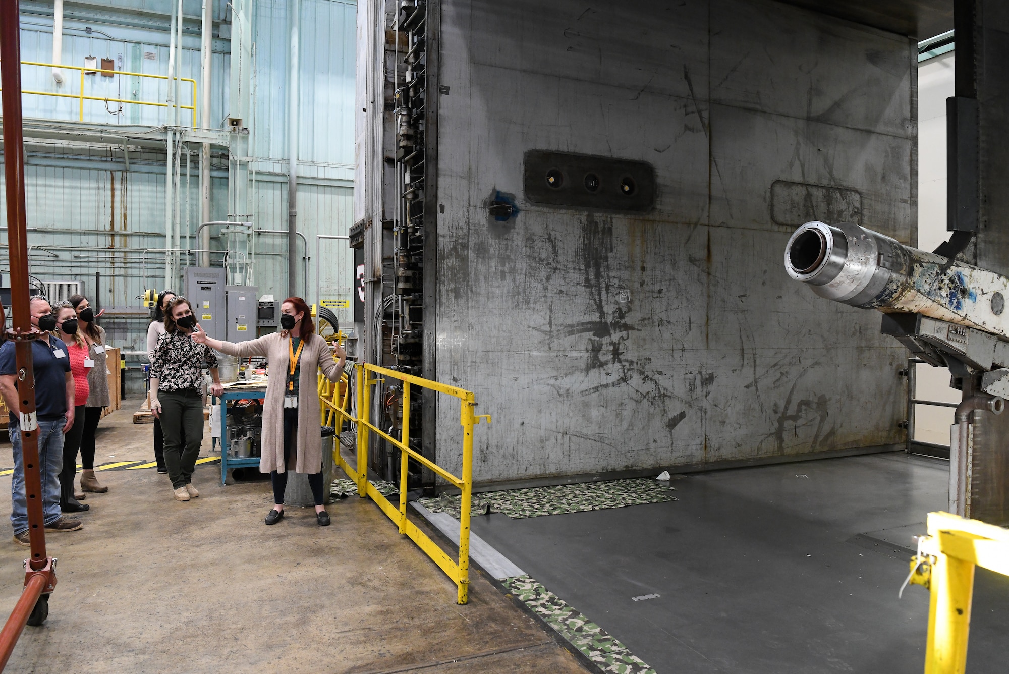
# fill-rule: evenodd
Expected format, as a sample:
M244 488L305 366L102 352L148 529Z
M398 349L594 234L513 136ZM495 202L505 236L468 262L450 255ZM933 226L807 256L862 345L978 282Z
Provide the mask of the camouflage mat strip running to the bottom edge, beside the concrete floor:
M501 583L603 672L655 674L654 669L629 653L624 644L535 579L516 576Z

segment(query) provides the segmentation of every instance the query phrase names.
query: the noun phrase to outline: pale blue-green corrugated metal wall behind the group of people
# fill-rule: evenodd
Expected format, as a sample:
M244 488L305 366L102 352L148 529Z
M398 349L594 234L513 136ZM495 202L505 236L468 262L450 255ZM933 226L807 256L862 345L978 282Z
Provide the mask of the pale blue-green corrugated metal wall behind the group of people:
M84 66L84 58L113 59L117 70L164 75L167 71L169 0L112 0L102 22L65 20L63 64ZM227 11L215 2L215 21ZM143 21L129 11L160 11L164 16ZM22 10L27 12L28 10ZM351 255L345 241L323 241L317 234L346 234L353 217L353 63L356 7L353 2L302 0L301 10L301 147L299 173L299 229L309 242L308 289L306 274L300 272L298 289L310 302L317 300L316 284L326 289L323 299L343 299L350 295ZM198 15L200 2L187 0L184 14ZM253 220L262 229L286 230L288 221L287 186L287 63L289 25L286 3L261 0L253 8L254 81L251 133L256 159L250 166L253 189ZM156 18L156 17L155 17ZM52 18L38 12L22 14L22 60L48 63L52 49ZM187 21L187 29L194 27ZM227 25L226 23L221 25ZM86 28L92 29L91 34ZM180 57L183 77L200 83L199 34L184 34ZM228 114L230 55L227 39L214 39L214 82L212 83L212 125L218 126ZM152 57L152 58L151 58ZM100 62L99 62L100 63ZM80 74L64 71L66 82L53 83L48 68L24 66L25 90L77 94ZM104 78L85 76L89 95L131 100L163 101L166 83L132 76ZM180 100L191 102L184 87ZM24 95L26 117L77 120L78 101ZM144 124L165 121L164 108L125 104L122 114L112 114L118 104L86 102L84 120L90 123ZM182 123L191 123L188 111ZM198 147L193 148L194 151ZM184 159L185 161L185 159ZM185 163L184 163L185 165ZM103 307L139 307L136 297L145 287L163 284L164 258L146 248L164 247L164 154L130 154L130 166L115 147L71 147L66 143L31 143L28 146L26 196L28 201L28 242L32 246L32 273L45 280L81 279L87 294L96 294ZM192 178L186 191L182 176L182 245L185 247L186 212L190 207L191 231L199 225L199 177L197 157L192 161ZM227 165L222 157L212 171L212 218L228 219ZM0 195L2 203L2 195ZM5 212L0 209L0 222ZM42 231L45 230L45 231ZM114 233L113 233L114 232ZM219 247L215 239L212 246ZM193 242L193 247L197 247ZM44 250L43 250L44 248ZM263 234L252 246L254 282L260 295L284 297L287 290L287 241L283 235ZM0 253L0 268L6 271L6 247ZM102 287L95 287L95 272L102 274ZM5 277L4 280L7 280ZM182 282L176 283L176 290ZM339 314L340 312L338 312ZM341 316L349 320L349 313ZM145 325L142 326L145 329ZM127 334L128 333L128 334ZM123 332L127 347L138 348L142 330Z

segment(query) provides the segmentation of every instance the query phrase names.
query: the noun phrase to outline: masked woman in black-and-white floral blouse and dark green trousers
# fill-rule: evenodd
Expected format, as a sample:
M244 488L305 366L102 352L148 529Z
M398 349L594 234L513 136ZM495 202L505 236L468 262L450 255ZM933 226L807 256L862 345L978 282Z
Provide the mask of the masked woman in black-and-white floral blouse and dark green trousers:
M176 297L164 314L164 334L157 339L150 366L150 411L164 433L164 464L176 500L200 495L193 471L203 444L203 363L214 378L211 391L224 391L213 349L193 341L196 316L189 300ZM183 433L185 429L185 446Z

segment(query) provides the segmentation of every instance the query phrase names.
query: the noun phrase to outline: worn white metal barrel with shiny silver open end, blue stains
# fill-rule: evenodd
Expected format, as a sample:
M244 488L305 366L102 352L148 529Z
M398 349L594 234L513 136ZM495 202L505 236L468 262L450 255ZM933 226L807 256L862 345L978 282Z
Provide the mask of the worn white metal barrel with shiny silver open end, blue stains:
M860 225L802 225L785 246L785 270L827 300L922 314L1009 337L1009 278Z

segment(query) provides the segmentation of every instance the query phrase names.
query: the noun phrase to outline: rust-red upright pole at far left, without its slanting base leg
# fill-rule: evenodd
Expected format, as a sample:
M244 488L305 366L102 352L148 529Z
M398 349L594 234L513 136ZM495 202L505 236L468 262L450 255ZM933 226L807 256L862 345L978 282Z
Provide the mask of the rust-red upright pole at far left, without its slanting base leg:
M21 36L18 3L0 3L0 89L11 92L2 97L4 189L7 197L7 244L10 257L10 304L12 328L18 339L15 358L18 378L18 417L24 465L24 489L28 501L28 539L32 569L47 564L45 530L42 526L42 483L38 469L38 423L35 417L35 376L31 364L30 340L38 334L31 326L28 303L28 241L24 200L24 135L21 116ZM21 374L23 373L23 378Z

